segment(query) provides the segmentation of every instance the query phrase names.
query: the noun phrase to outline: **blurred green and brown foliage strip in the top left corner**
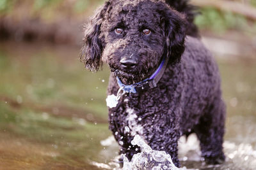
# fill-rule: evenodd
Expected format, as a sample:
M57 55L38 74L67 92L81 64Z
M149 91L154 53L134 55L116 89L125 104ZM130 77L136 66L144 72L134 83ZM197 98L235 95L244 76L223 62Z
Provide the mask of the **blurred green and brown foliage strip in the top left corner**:
M79 20L91 15L104 0L1 0L1 15L15 20L40 18L44 21L72 18Z

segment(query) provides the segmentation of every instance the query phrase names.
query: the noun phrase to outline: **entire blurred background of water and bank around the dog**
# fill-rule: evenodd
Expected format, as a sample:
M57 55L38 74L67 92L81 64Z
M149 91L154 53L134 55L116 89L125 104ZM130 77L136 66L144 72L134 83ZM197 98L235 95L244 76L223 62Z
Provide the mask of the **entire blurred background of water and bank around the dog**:
M0 1L0 169L112 169L109 69L79 62L83 24L104 1ZM256 166L256 1L198 1L202 41L220 66L226 164ZM230 146L230 145L228 145ZM248 148L246 150L246 146ZM195 164L194 164L195 163ZM201 162L183 166L205 169Z

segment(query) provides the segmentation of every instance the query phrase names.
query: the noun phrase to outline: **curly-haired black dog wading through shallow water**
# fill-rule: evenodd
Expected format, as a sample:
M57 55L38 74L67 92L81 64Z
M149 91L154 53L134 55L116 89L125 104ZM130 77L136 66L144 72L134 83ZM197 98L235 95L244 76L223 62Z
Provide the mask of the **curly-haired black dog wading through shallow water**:
M179 167L177 141L191 132L205 160L225 160L220 75L194 16L186 0L109 0L85 29L81 61L91 71L108 63L108 94L125 92L109 108L109 129L130 160L140 152L131 145L140 134Z

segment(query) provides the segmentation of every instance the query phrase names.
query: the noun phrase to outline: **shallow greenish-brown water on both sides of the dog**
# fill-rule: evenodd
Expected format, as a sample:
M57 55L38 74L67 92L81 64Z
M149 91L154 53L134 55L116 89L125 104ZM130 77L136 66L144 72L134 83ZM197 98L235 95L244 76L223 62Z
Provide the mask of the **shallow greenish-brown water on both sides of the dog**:
M0 43L0 169L113 169L108 69L90 73L76 46ZM255 59L218 58L227 103L227 161L207 166L195 135L180 139L188 169L255 169Z

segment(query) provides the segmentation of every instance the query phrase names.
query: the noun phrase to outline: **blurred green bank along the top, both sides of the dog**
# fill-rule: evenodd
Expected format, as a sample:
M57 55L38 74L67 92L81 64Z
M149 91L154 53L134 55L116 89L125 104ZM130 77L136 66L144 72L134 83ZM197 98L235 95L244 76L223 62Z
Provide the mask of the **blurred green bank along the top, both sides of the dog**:
M191 0L200 6L202 15L195 23L201 29L225 32L228 29L247 31L255 34L256 0ZM60 20L83 21L103 0L1 0L0 16L8 15L16 22L41 20L56 23Z

